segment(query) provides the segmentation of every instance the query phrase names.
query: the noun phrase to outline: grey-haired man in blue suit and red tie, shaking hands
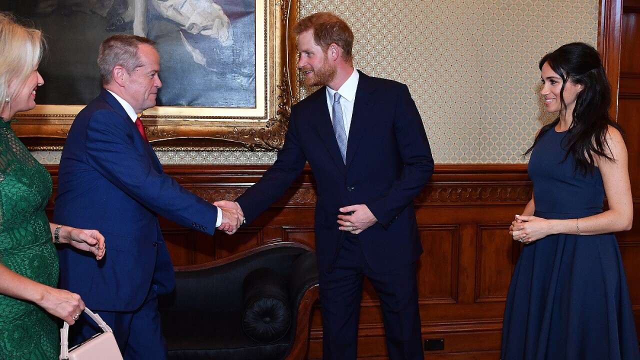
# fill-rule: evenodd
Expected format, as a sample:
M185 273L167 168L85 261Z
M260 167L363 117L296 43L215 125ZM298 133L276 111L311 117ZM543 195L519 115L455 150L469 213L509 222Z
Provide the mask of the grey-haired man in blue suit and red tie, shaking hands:
M233 232L242 218L218 209L164 174L138 113L156 105L162 83L154 42L115 35L100 45L104 90L74 120L58 173L54 221L99 229L108 254L96 263L73 248L59 250L60 287L79 293L113 329L125 360L166 359L158 294L173 289L173 265L158 215L212 234ZM70 344L96 334L81 318Z

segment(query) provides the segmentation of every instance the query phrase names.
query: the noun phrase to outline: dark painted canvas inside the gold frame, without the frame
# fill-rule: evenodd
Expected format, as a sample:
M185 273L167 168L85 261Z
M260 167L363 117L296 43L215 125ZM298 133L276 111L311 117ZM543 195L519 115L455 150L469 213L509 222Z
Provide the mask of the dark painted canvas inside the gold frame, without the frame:
M100 90L100 42L135 33L157 43L158 105L256 107L255 0L3 1L33 22L49 51L38 104L87 104Z

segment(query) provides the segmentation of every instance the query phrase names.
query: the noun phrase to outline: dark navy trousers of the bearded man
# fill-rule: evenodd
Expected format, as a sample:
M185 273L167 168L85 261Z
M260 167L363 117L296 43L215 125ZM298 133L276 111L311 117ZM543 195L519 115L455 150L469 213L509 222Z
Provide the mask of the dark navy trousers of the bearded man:
M357 235L346 236L332 272L319 272L323 360L355 360L364 277L380 299L390 360L424 360L416 265L376 273Z

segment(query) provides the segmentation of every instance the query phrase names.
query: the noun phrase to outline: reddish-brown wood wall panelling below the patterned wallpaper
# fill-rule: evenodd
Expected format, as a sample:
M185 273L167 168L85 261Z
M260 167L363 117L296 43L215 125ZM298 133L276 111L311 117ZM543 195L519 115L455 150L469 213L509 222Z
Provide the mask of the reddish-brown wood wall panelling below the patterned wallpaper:
M629 120L636 127L630 126L630 132L637 134L640 119L634 116ZM235 199L260 179L266 168L167 165L165 170L186 188L213 202ZM632 168L637 168L637 163ZM57 167L50 166L49 170L55 183ZM418 263L422 335L445 339L445 350L426 352L426 359L497 358L504 296L520 249L509 238L508 227L530 197L525 165L436 165L433 181L415 200L425 250ZM636 214L640 211L638 202L636 199ZM175 265L197 266L226 261L264 243L294 241L314 247L315 204L313 176L307 168L275 206L233 236L208 236L164 219L161 227ZM52 206L53 200L49 212ZM636 222L640 222L640 216L636 216ZM636 322L640 322L640 224L620 234L620 242ZM320 359L319 304L312 311L310 329L308 358ZM386 358L380 304L368 282L363 291L359 334L360 359Z

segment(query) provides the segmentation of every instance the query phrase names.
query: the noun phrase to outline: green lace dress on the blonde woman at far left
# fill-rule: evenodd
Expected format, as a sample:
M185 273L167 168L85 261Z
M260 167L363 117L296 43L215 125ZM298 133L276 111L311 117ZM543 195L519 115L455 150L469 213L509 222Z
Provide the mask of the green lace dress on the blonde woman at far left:
M42 284L58 284L58 256L45 205L51 176L0 118L0 262ZM0 295L0 359L58 359L54 317L31 302Z

